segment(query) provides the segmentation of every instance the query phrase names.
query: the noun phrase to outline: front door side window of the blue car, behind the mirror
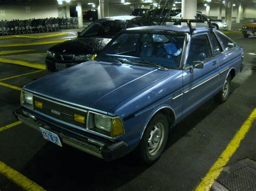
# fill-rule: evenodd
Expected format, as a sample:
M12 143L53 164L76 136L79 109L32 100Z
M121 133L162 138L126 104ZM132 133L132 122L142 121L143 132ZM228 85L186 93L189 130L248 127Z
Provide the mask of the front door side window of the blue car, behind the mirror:
M187 65L192 65L193 61L205 61L209 58L212 58L212 48L207 34L192 37Z

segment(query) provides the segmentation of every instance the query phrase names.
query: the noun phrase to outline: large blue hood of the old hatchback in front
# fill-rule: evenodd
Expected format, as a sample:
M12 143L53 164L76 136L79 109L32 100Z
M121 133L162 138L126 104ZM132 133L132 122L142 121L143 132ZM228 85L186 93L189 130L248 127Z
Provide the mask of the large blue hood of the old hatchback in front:
M88 61L24 87L37 95L107 113L137 91L168 75L155 67Z

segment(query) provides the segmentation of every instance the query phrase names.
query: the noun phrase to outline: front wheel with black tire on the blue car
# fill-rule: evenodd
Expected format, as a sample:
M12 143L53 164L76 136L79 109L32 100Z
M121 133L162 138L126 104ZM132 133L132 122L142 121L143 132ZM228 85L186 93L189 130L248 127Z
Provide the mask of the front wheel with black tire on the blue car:
M147 124L137 147L137 155L143 164L152 165L160 158L167 143L168 132L169 125L163 114L157 114Z

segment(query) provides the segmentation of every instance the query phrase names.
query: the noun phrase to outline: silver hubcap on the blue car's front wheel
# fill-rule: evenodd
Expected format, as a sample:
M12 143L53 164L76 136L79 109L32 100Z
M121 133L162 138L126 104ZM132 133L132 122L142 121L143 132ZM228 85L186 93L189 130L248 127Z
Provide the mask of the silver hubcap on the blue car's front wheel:
M156 155L161 148L164 140L164 125L157 123L150 132L149 140L147 141L147 151L151 156Z

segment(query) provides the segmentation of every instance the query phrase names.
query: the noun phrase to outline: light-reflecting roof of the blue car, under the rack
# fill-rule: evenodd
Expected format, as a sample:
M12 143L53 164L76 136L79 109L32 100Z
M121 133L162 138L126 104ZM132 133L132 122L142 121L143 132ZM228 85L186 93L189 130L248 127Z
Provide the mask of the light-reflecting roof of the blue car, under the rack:
M194 27L194 34L199 32L207 32L210 31L209 28L206 27ZM174 32L184 32L189 33L190 28L188 26L176 26L176 25L155 25L155 26L140 26L127 29L127 31L145 31L145 32L160 32L160 31L174 31Z

